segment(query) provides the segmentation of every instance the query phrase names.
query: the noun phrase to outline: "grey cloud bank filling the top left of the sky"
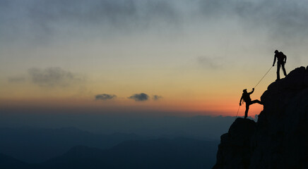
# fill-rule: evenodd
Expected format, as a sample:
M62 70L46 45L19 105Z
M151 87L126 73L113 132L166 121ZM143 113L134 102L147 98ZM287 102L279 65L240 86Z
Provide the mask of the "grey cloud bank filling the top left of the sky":
M148 30L160 23L165 27L179 23L173 4L163 0L7 1L0 9L0 35L8 39L25 36L42 41L62 34L109 35L111 30L127 33Z

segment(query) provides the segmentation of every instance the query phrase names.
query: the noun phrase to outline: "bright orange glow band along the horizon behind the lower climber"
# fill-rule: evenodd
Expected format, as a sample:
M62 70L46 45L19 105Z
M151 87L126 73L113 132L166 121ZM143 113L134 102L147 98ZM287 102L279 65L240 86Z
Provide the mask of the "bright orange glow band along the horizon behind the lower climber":
M102 112L160 112L165 115L223 115L235 116L237 113L237 99L220 101L181 101L181 100L162 100L162 101L95 101L94 99L6 99L1 100L0 107L5 108L81 108L86 110L97 110ZM249 116L254 118L262 111L263 107L254 104L249 108ZM239 108L238 116L243 116L245 106Z

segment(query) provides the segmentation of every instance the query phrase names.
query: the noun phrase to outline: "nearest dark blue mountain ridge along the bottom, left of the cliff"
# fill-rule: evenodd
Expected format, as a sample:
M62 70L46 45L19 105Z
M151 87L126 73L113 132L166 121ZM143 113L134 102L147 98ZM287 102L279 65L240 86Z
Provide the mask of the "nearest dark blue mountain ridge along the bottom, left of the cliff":
M43 163L47 168L211 168L218 142L195 139L127 141L112 149L75 146Z

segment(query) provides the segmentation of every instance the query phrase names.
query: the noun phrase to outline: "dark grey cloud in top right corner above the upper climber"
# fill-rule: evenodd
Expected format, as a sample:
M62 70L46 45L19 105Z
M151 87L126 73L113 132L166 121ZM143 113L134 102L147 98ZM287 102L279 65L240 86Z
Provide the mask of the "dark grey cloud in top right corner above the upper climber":
M199 1L199 11L206 18L237 20L252 33L266 30L270 38L299 39L306 38L308 33L305 1L204 0Z

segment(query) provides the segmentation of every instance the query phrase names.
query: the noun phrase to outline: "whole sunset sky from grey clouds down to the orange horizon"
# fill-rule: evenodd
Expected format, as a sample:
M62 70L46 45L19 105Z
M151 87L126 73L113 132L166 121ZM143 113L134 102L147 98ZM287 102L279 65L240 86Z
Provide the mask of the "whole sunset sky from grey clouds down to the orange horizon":
M307 19L304 0L0 0L0 108L235 116L276 49L307 66Z

